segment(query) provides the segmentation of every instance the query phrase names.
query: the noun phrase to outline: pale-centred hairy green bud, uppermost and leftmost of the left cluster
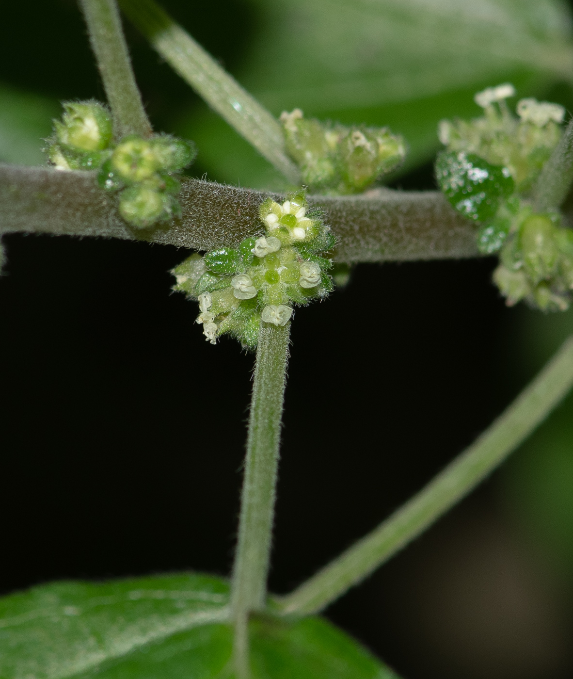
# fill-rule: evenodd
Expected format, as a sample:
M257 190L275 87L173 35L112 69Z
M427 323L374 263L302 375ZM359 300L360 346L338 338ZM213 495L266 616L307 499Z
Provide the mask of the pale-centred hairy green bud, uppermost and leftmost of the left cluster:
M54 120L56 139L80 151L102 151L111 141L111 115L94 101L66 102L62 122Z

